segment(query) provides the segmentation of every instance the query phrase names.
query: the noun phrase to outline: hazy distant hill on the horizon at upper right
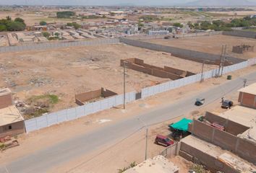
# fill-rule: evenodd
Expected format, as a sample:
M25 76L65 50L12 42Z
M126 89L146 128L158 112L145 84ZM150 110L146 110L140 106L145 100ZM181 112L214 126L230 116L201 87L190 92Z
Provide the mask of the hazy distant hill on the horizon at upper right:
M186 6L256 6L247 0L197 0L184 4Z

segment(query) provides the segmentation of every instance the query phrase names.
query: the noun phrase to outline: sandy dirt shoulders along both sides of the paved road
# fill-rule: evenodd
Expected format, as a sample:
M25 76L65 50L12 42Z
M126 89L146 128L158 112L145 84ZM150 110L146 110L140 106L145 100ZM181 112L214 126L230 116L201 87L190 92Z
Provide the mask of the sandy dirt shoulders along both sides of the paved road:
M256 71L255 66L244 68L239 71L231 73L234 79L239 78L244 74L249 74L252 71ZM228 75L228 74L227 74ZM242 79L241 79L242 80ZM54 125L49 128L44 128L42 130L35 131L29 134L22 134L18 137L20 146L15 148L10 148L0 154L0 163L6 164L9 161L26 156L27 154L32 154L35 151L53 146L56 143L65 141L69 138L74 138L75 136L80 136L85 133L90 133L93 130L103 127L104 125L110 125L111 123L116 123L119 120L123 120L126 117L137 115L142 112L147 112L150 109L156 107L162 107L171 102L176 102L177 99L182 97L189 97L198 91L204 91L221 84L226 81L226 76L218 79L208 79L203 83L190 84L188 86L181 87L179 89L174 89L170 92L165 92L158 94L148 99L137 100L127 105L127 110L122 110L121 107L112 108L110 110L105 110L98 112L96 114L90 115L88 117L82 117L80 119L61 123L59 125ZM223 93L224 94L224 93ZM225 96L227 99L237 100L238 92L234 94L228 94ZM166 102L163 103L162 100ZM192 111L189 115L182 115L182 117L198 117L203 115L203 113L208 111L223 112L225 110L221 109L221 100L216 100L210 105L205 105L200 107L200 109ZM234 102L236 105L237 102ZM169 120L164 123L159 123L158 125L150 126L149 134L150 140L148 143L148 156L155 156L159 154L164 147L158 146L153 143L155 135L161 133L167 135L169 132L168 124L180 120L182 117L177 117L175 119ZM99 123L100 120L111 120L107 123ZM81 156L77 159L72 159L64 165L55 167L51 172L117 172L117 169L122 169L127 167L133 161L140 163L143 161L145 156L145 128L137 133L132 134L129 138L119 139L118 141L111 141L108 145L102 148L95 148L90 154ZM38 142L40 141L40 142ZM75 142L75 141L74 141ZM114 145L114 146L113 146ZM189 167L186 161L183 159L171 159L175 164L182 165L181 170L186 170Z

